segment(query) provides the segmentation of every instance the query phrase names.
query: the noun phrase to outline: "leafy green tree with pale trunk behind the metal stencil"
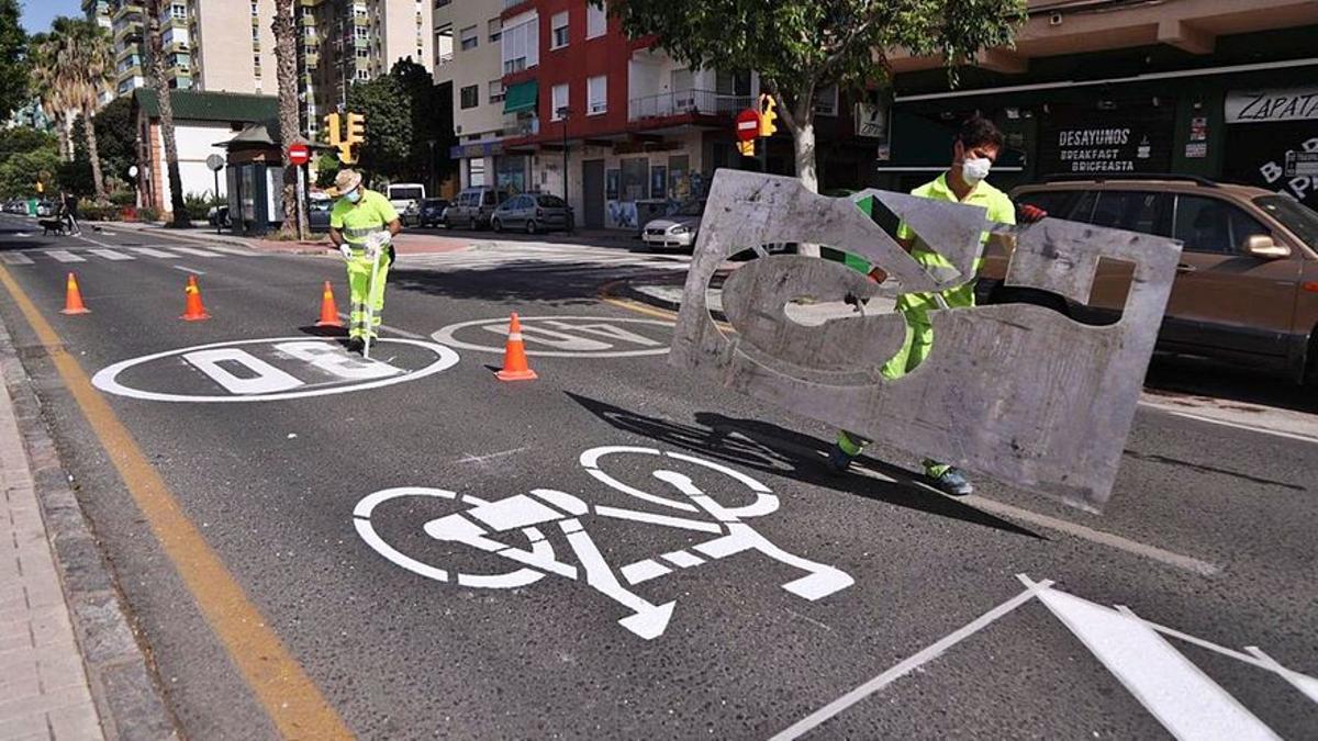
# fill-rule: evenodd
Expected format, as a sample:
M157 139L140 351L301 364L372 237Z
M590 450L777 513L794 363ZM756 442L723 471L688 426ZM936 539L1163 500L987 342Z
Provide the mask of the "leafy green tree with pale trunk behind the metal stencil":
M597 1L597 0L592 0ZM1010 46L1025 0L609 0L633 38L692 69L755 70L792 134L796 175L818 190L815 102L837 86L886 84L890 49L941 54L956 67L982 49Z

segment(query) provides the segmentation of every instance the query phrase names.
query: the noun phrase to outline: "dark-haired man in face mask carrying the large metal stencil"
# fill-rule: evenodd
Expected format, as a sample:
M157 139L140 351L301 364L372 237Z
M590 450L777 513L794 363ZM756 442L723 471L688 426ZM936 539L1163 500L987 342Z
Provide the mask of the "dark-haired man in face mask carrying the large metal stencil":
M1012 206L1011 199L1003 191L985 182L990 167L998 160L998 153L1002 152L1002 132L998 131L998 127L992 121L978 115L970 117L962 124L953 142L952 167L933 182L928 182L911 191L912 195L981 206L987 210L990 222L1015 224L1016 208ZM1041 211L1037 218L1043 218ZM927 270L952 268L948 260L931 249L904 222L898 227L896 236L898 244L909 252L911 257ZM981 239L983 243L988 243L990 237L999 240L1008 251L1012 247L1010 237L1002 235L985 232ZM977 264L975 269L978 270L978 268L979 265ZM878 268L870 274L879 282L887 278L883 270ZM948 289L938 295L946 302L948 309L974 306L974 280ZM905 318L907 339L902 349L883 367L882 373L886 378L900 378L929 356L929 351L933 348L933 324L929 319L929 311L941 307L934 294L911 293L898 297L896 309ZM840 431L837 442L833 444L832 451L829 451L829 465L836 472L845 472L851 465L851 460L861 455L866 444L867 440L854 434ZM940 489L949 494L966 496L974 492L970 479L954 465L925 460L924 472Z

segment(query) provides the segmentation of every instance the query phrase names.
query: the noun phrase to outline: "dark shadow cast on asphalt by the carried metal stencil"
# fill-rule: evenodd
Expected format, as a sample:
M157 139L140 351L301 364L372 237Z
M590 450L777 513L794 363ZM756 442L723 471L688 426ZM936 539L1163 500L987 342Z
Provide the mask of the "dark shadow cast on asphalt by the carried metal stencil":
M568 398L609 425L658 443L680 447L755 471L861 496L916 512L982 525L1016 535L1046 539L1012 522L981 512L952 497L917 485L923 476L862 456L858 464L895 483L859 475L832 475L824 465L830 443L757 419L735 419L712 411L696 414L696 425L646 417L589 397L565 392Z

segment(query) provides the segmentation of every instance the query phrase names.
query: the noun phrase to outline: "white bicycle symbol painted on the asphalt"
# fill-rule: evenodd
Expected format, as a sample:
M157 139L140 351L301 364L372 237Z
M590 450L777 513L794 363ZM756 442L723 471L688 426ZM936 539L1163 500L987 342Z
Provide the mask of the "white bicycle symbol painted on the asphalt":
M656 459L652 477L662 484L660 490L671 489L668 493L680 494L680 498L670 498L638 489L614 479L601 468L605 459L623 455ZM854 584L854 579L846 572L787 552L745 522L771 514L779 506L778 496L768 487L745 473L680 452L627 446L590 448L581 454L580 463L587 473L610 489L683 514L659 514L590 505L573 494L556 489L534 489L527 494L514 494L490 501L472 494L457 494L447 489L405 487L376 492L362 498L353 509L353 522L357 534L382 556L413 574L436 581L456 583L472 588L513 589L534 584L551 574L576 581L584 580L597 592L626 608L629 614L618 620L618 624L646 639L663 634L676 601L654 604L631 591L630 587L672 574L673 568L695 568L734 554L758 551L779 563L805 572L804 576L783 584L784 589L805 600L818 600ZM677 467L676 463L702 467L730 481L721 484L717 492L706 493L689 476L668 468L670 465ZM725 487L742 494L749 490L754 494L754 501L743 506L724 506L714 498L714 494L729 493ZM712 489L712 487L706 488ZM501 556L511 562L509 570L501 574L449 572L439 566L416 560L389 545L372 525L372 516L384 502L403 497L430 497L464 505L467 509L461 512L426 522L422 530L435 541L461 543ZM583 522L583 518L587 517L704 533L710 538L688 548L659 554L614 568L596 547ZM576 563L560 559L550 537L540 527L551 529L551 534L552 529L558 529L567 541ZM525 547L505 542L506 535L517 533L526 538Z

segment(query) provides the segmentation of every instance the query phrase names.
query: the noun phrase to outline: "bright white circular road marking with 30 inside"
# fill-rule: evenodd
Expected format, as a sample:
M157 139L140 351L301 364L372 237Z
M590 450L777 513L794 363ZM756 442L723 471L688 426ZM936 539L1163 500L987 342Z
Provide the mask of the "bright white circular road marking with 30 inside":
M98 389L100 389L100 390L103 390L105 393L111 393L111 394L116 394L116 396L121 396L121 397L128 397L128 398L142 400L142 401L170 401L170 402L194 402L194 403L285 401L285 400L295 400L295 398L310 398L310 397L323 397L323 396L344 394L344 393L349 393L349 392L362 392L362 390L368 390L368 389L378 389L378 388L382 388L382 386L391 386L394 384L403 384L403 382L407 382L407 381L416 381L419 378L424 378L426 376L434 376L435 373L439 373L442 370L447 370L447 369L452 368L453 365L457 365L457 361L459 361L457 353L453 352L451 348L444 347L442 344L427 343L427 341L422 341L422 340L409 340L409 339L389 338L389 339L377 340L376 347L384 347L384 345L387 345L390 343L419 347L419 348L422 348L424 351L428 351L428 352L434 353L435 360L431 364L426 365L424 368L419 368L416 370L398 370L398 372L390 373L390 374L387 374L385 377L380 377L378 373L369 373L368 372L368 373L360 374L360 377L362 380L353 381L351 378L345 378L344 382L333 384L333 385L301 384L295 378L291 378L291 376L287 376L286 373L283 373L283 372L281 372L278 369L269 368L268 364L265 364L264 361L261 361L258 368L249 367L249 369L256 369L256 370L261 372L261 369L264 368L265 372L268 372L268 373L278 374L278 378L275 378L275 384L283 382L283 385L278 386L281 390L268 392L268 393L261 393L261 392L246 393L246 394L232 394L231 393L231 394L223 394L223 396L220 396L220 394L179 394L179 393L153 392L153 390L148 390L148 389L134 389L132 386L127 386L127 385L119 382L119 376L123 374L129 368L136 368L138 365L144 365L144 364L153 363L153 361L157 361L157 360L162 360L162 359L166 359L166 357L175 357L175 356L182 357L185 355L210 356L210 355L216 355L217 351L221 351L221 349L225 349L225 348L236 348L236 347L241 347L241 345L254 345L254 344L277 345L277 344L281 344L281 343L293 343L293 344L302 345L302 344L308 344L312 340L308 340L308 338L304 338L304 336L302 336L302 338L265 338L265 339L256 339L256 340L228 340L228 341L223 341L223 343L211 343L211 344L196 345L196 347L185 347L185 348L179 348L179 349L170 349L170 351L165 351L165 352L157 352L154 355L146 355L146 356L142 356L142 357L133 357L133 359L129 359L129 360L123 360L120 363L109 365L108 368L104 368L100 372L98 372L92 377L91 382L92 382L94 386L96 386ZM220 360L237 360L237 357L223 357ZM369 364L369 363L376 363L376 361L360 361L360 363L361 364ZM347 364L347 359L343 360L343 364ZM318 363L308 363L308 365L318 365ZM320 361L319 365L324 367L324 361ZM384 364L378 364L378 365L384 365ZM289 381L289 378L291 378L291 381ZM212 376L212 380L214 380L214 376ZM287 382L285 382L285 381L287 381ZM236 382L241 384L244 381L243 380L237 380ZM297 388L297 386L306 386L306 388ZM256 388L256 386L253 386L253 388ZM274 386L272 386L272 388L274 388Z

